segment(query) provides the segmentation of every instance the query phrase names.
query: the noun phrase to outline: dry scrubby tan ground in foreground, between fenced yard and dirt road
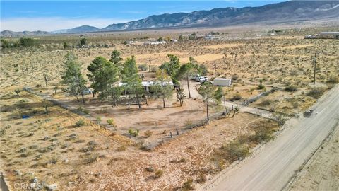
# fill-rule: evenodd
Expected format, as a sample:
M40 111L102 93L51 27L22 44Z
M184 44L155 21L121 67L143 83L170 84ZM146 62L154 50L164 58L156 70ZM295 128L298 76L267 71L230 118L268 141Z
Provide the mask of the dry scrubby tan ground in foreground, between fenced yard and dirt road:
M140 143L59 106L50 105L46 114L43 100L29 93L1 99L1 170L13 188L33 180L60 190L173 190L188 180L203 183L227 165L211 161L213 149L275 125L240 113L143 151Z

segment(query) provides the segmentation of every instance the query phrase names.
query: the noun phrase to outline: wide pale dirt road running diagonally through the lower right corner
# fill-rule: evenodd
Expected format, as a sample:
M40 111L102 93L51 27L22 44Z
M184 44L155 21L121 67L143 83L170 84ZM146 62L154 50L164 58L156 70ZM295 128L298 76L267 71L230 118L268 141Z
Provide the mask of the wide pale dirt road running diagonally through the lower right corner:
M339 85L328 91L312 108L309 118L287 122L274 141L239 165L225 169L201 190L281 190L302 164L338 127Z

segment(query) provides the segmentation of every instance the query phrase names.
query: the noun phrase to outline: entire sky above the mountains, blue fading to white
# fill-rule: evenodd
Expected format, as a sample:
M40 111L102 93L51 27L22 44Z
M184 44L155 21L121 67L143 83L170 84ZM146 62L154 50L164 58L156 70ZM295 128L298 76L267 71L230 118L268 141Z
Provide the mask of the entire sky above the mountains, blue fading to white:
M1 30L104 28L162 13L262 6L281 1L2 1Z

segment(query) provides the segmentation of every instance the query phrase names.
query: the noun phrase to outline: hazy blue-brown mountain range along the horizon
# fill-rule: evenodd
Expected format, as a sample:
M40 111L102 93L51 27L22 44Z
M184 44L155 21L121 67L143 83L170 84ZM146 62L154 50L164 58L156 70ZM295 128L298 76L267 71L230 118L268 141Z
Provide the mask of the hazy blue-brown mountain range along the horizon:
M293 23L298 21L339 20L339 1L285 1L258 7L214 8L210 11L191 13L165 13L149 16L138 21L117 23L105 28L82 25L77 28L54 32L1 31L1 36L8 35L46 35L55 33L92 33L114 30L142 30L149 28L194 28L221 27L250 23Z

